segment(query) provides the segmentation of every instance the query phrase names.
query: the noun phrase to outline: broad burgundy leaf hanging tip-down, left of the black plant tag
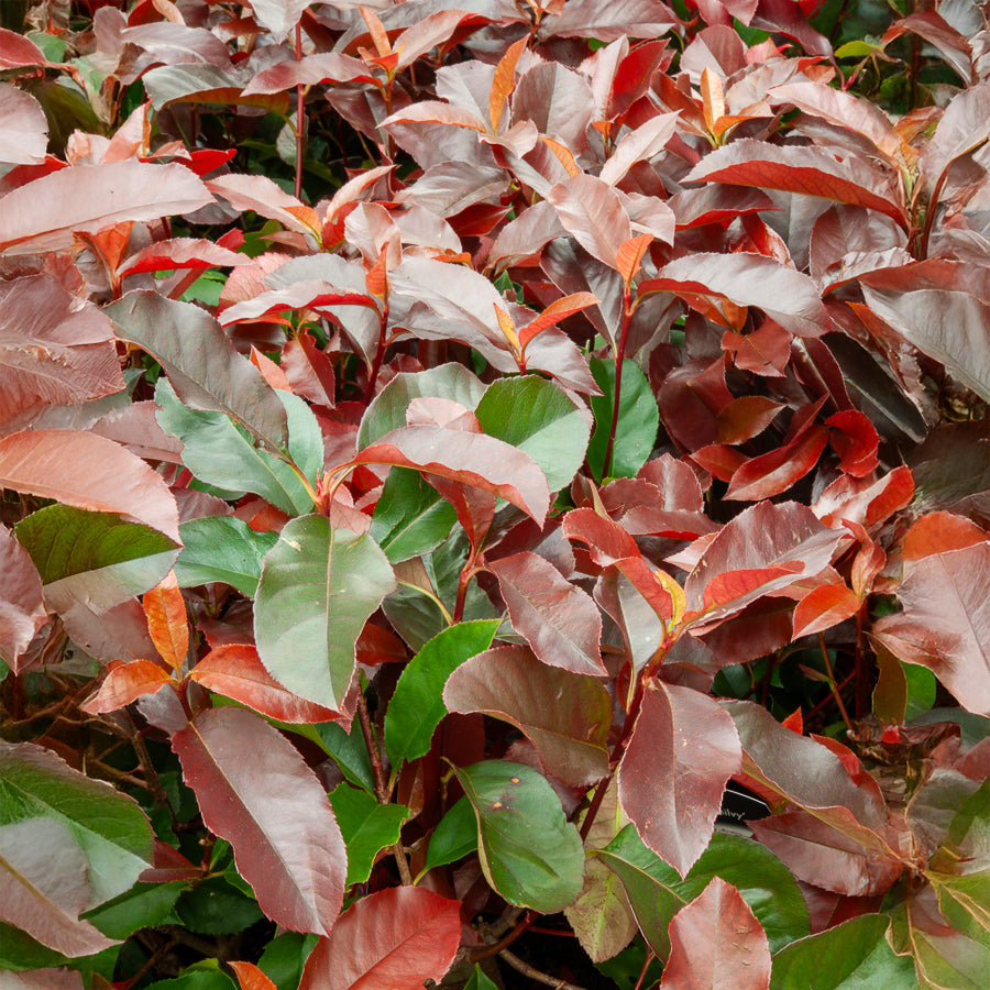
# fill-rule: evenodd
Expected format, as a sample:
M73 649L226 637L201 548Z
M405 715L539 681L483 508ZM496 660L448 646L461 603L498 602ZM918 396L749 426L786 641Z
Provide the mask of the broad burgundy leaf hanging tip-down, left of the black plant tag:
M732 717L715 701L653 681L618 769L619 803L683 877L707 848L725 785L741 768Z

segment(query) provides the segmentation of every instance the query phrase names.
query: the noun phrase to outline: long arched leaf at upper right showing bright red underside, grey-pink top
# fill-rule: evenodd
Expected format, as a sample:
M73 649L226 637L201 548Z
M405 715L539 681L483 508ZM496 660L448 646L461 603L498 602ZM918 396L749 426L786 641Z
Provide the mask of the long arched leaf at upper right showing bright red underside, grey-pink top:
M835 202L869 207L905 229L908 226L891 174L855 155L838 162L824 147L771 145L740 138L705 155L684 179L821 196Z

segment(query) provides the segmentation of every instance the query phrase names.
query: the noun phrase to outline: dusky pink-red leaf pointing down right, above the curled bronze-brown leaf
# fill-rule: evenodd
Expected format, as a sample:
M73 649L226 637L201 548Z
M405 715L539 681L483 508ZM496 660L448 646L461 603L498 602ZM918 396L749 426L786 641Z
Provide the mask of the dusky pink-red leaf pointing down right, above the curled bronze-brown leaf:
M536 553L488 562L498 579L513 628L543 663L604 674L602 614L591 596Z

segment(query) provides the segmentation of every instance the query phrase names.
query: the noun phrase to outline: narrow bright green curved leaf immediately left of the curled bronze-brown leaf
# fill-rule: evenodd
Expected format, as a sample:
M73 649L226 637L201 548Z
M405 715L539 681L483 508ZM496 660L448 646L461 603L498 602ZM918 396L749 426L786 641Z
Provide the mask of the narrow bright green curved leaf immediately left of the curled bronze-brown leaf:
M429 751L433 729L447 714L443 685L465 660L486 650L499 619L459 623L435 636L406 664L385 713L385 749L393 767Z

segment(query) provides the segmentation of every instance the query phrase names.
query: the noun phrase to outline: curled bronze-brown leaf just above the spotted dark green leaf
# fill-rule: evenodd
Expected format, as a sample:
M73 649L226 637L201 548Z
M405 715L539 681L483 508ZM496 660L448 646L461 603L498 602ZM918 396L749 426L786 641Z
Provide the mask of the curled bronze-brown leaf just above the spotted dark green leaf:
M605 689L593 678L547 667L525 647L499 647L466 660L448 678L443 704L515 725L546 771L571 787L594 783L608 771L612 702Z

